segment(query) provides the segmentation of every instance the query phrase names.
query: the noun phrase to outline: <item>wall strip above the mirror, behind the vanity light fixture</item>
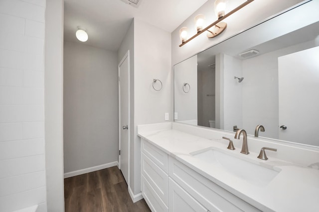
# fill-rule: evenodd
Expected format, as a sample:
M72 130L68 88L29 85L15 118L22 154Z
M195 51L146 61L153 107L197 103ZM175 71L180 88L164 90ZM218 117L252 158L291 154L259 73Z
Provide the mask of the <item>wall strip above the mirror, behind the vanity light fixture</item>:
M230 3L230 8L235 8L240 3L245 0L228 1ZM172 64L177 64L180 61L185 60L193 56L194 54L213 46L232 35L247 29L261 21L265 20L267 17L277 14L278 12L289 8L303 0L255 0L246 7L227 17L224 21L227 22L226 30L218 35L216 38L208 39L206 33L201 34L197 38L193 39L189 43L182 47L179 47L179 29L183 26L188 27L189 37L196 34L196 29L194 27L194 17L203 13L206 16L206 25L217 20L214 12L214 0L208 0L203 4L198 10L196 10L193 15L188 17L183 23L181 23L172 33L171 33L171 54L172 54ZM269 34L265 33L265 36Z

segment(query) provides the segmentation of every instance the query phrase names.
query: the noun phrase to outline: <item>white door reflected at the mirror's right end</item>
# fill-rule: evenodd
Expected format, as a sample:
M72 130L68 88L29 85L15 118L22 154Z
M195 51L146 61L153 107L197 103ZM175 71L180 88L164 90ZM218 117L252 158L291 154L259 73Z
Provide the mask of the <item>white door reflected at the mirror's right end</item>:
M279 139L319 145L319 47L278 58L278 74Z

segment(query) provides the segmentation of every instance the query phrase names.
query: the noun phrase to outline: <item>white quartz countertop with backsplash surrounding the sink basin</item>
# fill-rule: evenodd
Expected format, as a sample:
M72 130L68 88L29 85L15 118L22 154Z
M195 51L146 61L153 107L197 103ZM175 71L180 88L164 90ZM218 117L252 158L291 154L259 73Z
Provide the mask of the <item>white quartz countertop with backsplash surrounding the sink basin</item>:
M259 152L245 155L240 153L239 148L227 149L228 142L225 140L204 139L173 129L139 131L138 135L261 211L319 212L318 169L274 157L261 160L257 158ZM267 185L257 185L190 154L204 148L216 148L238 159L281 171Z

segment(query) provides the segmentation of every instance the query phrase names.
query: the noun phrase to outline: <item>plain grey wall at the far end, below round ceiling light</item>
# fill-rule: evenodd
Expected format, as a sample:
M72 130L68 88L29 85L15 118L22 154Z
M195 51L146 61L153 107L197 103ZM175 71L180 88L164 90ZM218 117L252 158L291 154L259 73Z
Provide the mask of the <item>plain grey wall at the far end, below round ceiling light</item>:
M63 93L64 173L116 162L117 54L64 41Z

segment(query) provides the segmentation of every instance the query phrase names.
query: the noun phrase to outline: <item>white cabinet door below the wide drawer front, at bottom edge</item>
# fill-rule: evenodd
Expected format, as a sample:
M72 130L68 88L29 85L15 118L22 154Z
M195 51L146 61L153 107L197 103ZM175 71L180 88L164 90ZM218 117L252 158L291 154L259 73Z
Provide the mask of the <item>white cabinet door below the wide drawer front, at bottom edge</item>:
M171 178L169 184L169 212L208 212Z

